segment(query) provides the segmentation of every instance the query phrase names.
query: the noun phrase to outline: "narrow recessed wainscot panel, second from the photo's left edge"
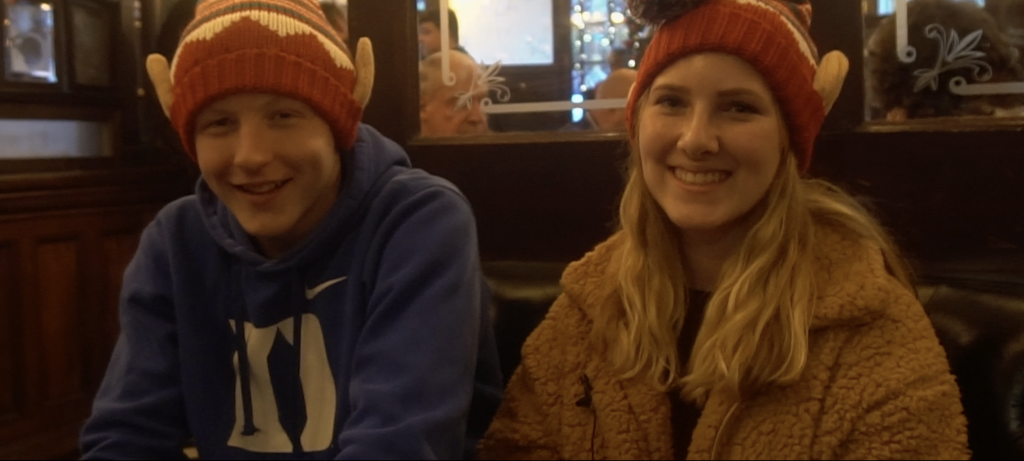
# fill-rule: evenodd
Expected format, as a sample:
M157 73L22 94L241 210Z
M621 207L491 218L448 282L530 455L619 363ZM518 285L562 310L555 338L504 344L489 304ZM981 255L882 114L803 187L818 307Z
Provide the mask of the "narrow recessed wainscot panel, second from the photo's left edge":
M78 274L79 245L76 240L40 243L36 248L39 335L31 339L44 344L42 397L44 405L81 397L83 394L83 329L91 325L79 318L82 296Z

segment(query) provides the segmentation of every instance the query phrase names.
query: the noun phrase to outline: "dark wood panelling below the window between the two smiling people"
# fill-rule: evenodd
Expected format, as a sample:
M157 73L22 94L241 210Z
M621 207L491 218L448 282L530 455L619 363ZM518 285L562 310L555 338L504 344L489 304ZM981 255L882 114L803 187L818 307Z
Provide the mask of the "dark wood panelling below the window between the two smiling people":
M473 206L484 260L575 260L611 234L627 158L621 136L581 149L562 133L473 143L414 141L413 165L454 182ZM559 140L560 139L560 140Z

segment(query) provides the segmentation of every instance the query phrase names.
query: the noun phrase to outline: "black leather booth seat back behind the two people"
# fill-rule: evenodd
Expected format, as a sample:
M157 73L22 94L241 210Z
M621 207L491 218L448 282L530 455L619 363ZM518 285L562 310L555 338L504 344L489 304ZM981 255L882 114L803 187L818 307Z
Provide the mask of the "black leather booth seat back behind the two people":
M1024 459L1024 261L954 261L922 270L928 311L963 395L974 459ZM565 263L485 262L505 379L561 293Z

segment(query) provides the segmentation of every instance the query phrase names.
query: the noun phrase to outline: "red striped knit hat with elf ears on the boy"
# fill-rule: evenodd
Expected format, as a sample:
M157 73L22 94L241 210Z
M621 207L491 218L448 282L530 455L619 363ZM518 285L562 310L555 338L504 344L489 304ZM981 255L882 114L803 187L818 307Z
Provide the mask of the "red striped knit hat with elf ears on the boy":
M151 54L160 103L196 160L196 116L238 93L305 102L327 121L338 149L355 142L373 87L373 51L359 40L353 66L317 0L199 0L170 67Z

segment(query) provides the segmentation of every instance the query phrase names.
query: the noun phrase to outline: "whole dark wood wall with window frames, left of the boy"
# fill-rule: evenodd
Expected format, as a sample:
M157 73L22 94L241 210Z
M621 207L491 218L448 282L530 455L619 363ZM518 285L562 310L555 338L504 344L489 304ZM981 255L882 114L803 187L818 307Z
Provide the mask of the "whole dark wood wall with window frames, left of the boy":
M0 118L110 121L100 159L0 162L0 459L76 458L116 340L121 274L155 213L189 194L196 166L159 138L142 69L150 0L55 0L60 82L0 82ZM69 5L111 15L113 85L72 84ZM142 20L136 23L135 6ZM2 8L0 8L2 9ZM81 57L81 56L78 56Z

